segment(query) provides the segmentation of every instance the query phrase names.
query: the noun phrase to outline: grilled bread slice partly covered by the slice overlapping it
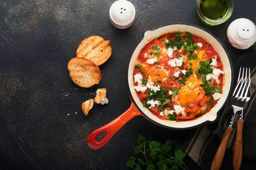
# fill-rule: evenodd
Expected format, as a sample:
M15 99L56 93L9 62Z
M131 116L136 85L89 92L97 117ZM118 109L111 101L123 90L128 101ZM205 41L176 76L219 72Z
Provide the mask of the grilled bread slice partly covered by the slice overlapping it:
M112 53L110 40L99 36L84 39L76 50L76 57L83 57L95 62L97 66L104 64Z

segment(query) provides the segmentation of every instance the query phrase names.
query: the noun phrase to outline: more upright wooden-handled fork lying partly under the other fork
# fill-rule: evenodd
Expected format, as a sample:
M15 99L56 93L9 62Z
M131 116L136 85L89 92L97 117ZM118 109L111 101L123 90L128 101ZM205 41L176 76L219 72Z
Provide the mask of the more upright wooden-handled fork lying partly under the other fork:
M239 71L239 77L241 73L241 68ZM244 68L243 73L241 76L241 79L244 79L247 77L247 68L245 71L245 77L244 77ZM248 77L250 79L250 68L248 72ZM239 82L240 79L237 80ZM247 82L246 86L248 87L247 96L245 97L245 102L248 102L250 100L251 94L250 94L250 82ZM233 153L233 167L234 170L239 170L242 163L242 156L243 156L243 142L242 142L242 136L243 136L243 109L241 110L241 113L239 115L239 119L237 120L237 131L236 131L236 142L234 147L234 153Z

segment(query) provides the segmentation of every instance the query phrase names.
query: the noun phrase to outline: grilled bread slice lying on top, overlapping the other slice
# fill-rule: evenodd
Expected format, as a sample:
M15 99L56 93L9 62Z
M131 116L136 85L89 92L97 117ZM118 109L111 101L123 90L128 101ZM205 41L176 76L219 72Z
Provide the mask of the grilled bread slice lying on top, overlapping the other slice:
M102 78L99 67L92 61L76 57L70 60L67 65L70 77L77 85L84 88L99 84Z

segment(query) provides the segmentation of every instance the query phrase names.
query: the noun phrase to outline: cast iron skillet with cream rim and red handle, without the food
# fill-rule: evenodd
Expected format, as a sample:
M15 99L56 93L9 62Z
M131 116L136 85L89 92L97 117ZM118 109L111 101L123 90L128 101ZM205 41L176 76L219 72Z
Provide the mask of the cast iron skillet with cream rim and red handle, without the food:
M221 61L224 65L224 85L223 85L223 96L219 99L218 103L205 115L200 116L194 120L189 120L185 122L176 122L176 121L166 121L161 120L147 108L143 107L143 104L140 102L136 91L134 90L134 80L133 80L133 71L134 66L136 65L136 59L139 55L141 49L151 40L154 40L157 37L160 37L163 34L168 32L184 32L189 31L192 34L202 37L205 41L209 42L215 51L218 52ZM102 148L111 137L130 119L135 116L144 116L149 121L153 122L156 125L170 128L170 129L189 129L198 127L208 122L215 122L218 119L219 112L224 104L227 102L228 96L230 96L230 90L233 85L233 66L227 50L224 48L224 45L218 40L214 35L205 30L204 28L200 28L199 26L195 26L192 24L183 24L183 23L173 23L166 26L160 26L159 28L155 28L153 30L145 31L143 39L135 48L133 54L128 60L128 65L126 68L126 84L129 92L129 96L131 98L131 107L128 108L125 113L122 113L119 117L114 119L112 122L108 123L100 127L99 129L94 130L87 137L87 144L92 149L100 149ZM106 136L99 142L96 141L96 136L101 133L106 133Z

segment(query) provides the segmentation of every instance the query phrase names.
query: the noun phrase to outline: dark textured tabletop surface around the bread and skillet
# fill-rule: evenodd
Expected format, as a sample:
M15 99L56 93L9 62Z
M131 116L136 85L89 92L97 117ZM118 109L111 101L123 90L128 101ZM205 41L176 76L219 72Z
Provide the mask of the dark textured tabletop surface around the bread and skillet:
M121 30L109 20L113 2L0 0L1 170L127 169L126 159L133 154L138 134L165 141L179 132L139 116L102 149L86 144L93 130L129 108L125 67L143 31L173 22L195 24L218 37L236 62L243 51L229 44L227 27L241 17L256 23L254 0L234 0L232 16L217 27L201 23L196 0L131 0L136 18L130 28ZM113 51L100 66L99 85L80 88L70 79L67 63L76 56L79 43L92 35L111 40ZM94 105L84 116L81 103L94 98L98 88L107 88L109 104Z

